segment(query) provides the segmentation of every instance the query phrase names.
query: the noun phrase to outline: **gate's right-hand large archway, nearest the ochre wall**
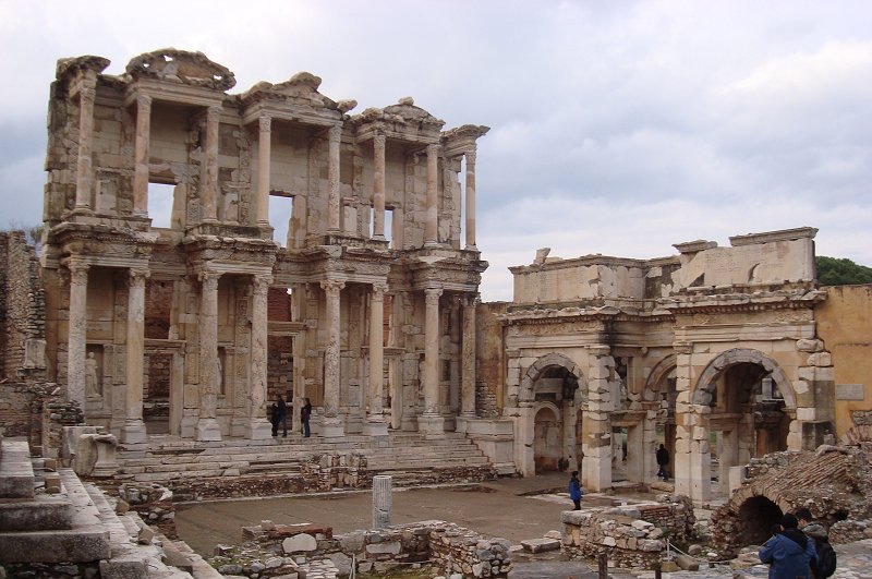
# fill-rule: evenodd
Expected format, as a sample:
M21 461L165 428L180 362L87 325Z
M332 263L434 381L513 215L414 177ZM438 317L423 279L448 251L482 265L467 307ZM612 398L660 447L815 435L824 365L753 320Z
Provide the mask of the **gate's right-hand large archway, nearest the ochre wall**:
M703 371L694 403L708 406L713 491L727 492L729 469L787 449L796 408L792 387L774 360L756 350L732 349Z

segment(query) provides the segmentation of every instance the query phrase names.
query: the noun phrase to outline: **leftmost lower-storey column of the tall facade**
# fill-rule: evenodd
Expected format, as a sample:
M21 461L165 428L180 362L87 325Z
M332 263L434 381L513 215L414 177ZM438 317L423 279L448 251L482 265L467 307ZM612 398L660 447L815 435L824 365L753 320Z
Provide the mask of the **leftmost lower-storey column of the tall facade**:
M85 353L87 347L88 264L70 268L70 321L66 335L66 398L85 410Z

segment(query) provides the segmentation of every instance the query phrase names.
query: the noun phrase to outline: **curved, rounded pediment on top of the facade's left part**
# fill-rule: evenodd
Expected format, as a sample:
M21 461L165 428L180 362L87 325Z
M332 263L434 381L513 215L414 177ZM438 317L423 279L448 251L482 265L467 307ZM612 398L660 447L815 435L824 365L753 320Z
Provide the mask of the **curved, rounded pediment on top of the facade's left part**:
M154 50L131 59L126 74L133 80L155 79L221 92L229 91L237 84L229 69L213 62L203 52L175 48Z

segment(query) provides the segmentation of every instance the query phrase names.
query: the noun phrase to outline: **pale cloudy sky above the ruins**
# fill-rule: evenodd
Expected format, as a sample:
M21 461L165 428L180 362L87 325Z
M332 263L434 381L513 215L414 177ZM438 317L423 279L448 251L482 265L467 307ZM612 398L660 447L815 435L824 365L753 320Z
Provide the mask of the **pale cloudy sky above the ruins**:
M120 73L199 50L233 92L310 71L334 99L404 96L485 124L483 299L510 265L811 226L872 265L872 2L0 0L0 227L41 220L58 58Z

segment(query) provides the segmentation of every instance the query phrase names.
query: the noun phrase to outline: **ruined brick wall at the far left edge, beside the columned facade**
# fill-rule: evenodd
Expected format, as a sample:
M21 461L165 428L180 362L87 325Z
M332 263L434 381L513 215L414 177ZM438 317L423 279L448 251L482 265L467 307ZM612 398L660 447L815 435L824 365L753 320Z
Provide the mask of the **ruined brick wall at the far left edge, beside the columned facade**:
M0 232L0 376L44 377L46 299L24 232Z

